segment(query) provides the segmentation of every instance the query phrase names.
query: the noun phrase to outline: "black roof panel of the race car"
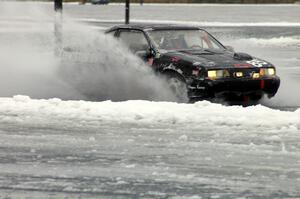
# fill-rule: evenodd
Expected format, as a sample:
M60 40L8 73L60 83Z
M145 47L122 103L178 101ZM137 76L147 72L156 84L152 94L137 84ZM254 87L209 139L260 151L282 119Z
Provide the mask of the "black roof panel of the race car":
M115 25L106 32L111 32L117 29L135 29L135 30L202 30L197 26L174 25L174 24L122 24Z

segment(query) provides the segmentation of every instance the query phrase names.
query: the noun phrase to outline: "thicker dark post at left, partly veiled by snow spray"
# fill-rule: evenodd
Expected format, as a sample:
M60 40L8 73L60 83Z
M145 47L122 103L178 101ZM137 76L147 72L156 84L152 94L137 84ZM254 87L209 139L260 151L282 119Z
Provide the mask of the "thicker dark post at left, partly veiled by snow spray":
M54 0L55 22L54 22L54 37L55 37L55 55L61 55L62 49L62 0Z

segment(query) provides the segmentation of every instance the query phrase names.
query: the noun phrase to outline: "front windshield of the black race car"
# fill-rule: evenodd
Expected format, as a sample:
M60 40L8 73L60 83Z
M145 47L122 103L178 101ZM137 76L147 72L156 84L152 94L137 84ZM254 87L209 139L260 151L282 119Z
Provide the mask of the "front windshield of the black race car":
M203 30L151 30L149 37L163 50L224 50L224 47Z

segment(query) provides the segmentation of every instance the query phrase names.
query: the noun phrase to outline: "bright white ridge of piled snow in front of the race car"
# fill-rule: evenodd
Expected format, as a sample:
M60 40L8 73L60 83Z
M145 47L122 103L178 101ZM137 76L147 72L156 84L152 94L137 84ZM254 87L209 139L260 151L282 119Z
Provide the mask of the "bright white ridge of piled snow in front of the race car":
M287 130L299 132L300 109L294 112L264 106L243 108L207 101L195 104L125 101L87 102L60 99L34 100L27 96L0 98L0 123L71 122L74 125L101 124L180 125L181 127L230 127L239 129Z

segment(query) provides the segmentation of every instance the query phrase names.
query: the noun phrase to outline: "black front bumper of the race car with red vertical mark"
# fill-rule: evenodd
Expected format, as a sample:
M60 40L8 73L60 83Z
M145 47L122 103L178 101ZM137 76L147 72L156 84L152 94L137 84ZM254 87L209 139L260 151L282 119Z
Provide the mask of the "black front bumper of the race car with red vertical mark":
M226 97L228 95L268 95L273 97L279 88L280 79L275 76L264 79L204 80L191 84L189 96L201 98Z

